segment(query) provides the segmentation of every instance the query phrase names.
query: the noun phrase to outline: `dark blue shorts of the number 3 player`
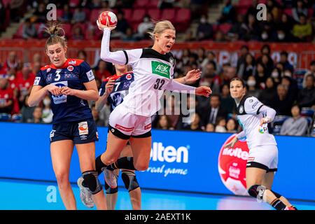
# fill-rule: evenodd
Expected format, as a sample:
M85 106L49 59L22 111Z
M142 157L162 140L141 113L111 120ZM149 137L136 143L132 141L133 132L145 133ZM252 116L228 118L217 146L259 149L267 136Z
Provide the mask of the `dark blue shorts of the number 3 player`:
M99 141L97 125L93 118L52 125L50 143L62 140L72 140L73 144Z

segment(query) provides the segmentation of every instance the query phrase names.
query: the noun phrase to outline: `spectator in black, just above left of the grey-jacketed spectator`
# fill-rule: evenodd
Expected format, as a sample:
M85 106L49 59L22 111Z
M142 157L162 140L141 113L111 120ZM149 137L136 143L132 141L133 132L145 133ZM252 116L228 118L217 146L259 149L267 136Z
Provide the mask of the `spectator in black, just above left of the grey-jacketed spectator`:
M285 85L279 84L276 87L276 104L274 109L277 115L290 116L290 110L293 102L288 97L288 88Z

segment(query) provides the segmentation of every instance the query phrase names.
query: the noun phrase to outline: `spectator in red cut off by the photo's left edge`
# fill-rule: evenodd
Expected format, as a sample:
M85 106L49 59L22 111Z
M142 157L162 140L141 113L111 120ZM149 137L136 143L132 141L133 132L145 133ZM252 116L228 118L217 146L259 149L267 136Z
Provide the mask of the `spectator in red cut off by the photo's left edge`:
M10 114L13 109L13 91L6 78L0 78L0 113Z

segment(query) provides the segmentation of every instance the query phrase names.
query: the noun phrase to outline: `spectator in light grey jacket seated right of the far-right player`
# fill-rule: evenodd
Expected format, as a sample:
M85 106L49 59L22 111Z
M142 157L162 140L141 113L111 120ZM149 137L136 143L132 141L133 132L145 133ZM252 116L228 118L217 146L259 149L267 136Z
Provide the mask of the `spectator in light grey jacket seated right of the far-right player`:
M307 120L300 116L300 107L295 104L291 109L292 117L284 121L280 134L302 136L307 132Z

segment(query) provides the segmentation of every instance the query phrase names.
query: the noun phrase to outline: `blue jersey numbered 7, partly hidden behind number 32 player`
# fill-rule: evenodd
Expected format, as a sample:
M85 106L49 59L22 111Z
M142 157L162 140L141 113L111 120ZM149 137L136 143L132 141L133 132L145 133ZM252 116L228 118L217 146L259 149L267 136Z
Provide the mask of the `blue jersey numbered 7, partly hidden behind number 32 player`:
M134 81L134 73L128 72L124 73L122 76L110 76L103 80L101 88L99 89L99 96L102 97L105 93L105 85L109 81L109 78L115 80L115 85L111 94L107 98L109 104L111 104L111 111L121 104L124 100L124 97L128 94L130 84Z

